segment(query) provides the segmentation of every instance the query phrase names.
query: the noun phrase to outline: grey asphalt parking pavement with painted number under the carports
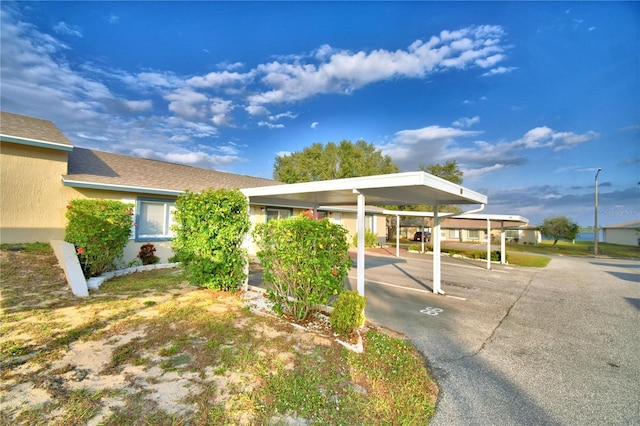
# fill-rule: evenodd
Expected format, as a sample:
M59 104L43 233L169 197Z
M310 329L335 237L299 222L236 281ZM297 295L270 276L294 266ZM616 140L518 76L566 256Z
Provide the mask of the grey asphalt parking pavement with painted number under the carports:
M400 331L440 385L433 425L640 425L640 262L544 269L367 255L369 321ZM355 288L355 269L350 285Z

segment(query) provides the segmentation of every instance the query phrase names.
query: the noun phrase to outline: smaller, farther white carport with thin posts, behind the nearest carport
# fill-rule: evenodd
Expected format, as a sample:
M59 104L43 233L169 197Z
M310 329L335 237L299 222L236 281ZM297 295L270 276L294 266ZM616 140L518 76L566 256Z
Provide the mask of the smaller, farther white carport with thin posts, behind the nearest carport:
M477 213L441 213L437 215L435 212L405 212L396 210L384 210L382 214L396 217L396 257L400 257L400 216L413 216L413 217L432 217L434 218L434 226L432 235L438 237L438 250L440 250L440 220L444 218L456 218L467 219L471 221L480 221L486 223L487 230L487 269L491 269L491 230L500 229L500 263L507 263L506 254L506 233L509 229L518 229L520 227L529 224L529 219L518 215L506 215L506 214L477 214ZM438 221L438 229L436 232L436 216L440 218ZM435 236L434 238L434 252L435 252ZM424 250L424 241L422 242ZM438 251L439 253L439 251Z

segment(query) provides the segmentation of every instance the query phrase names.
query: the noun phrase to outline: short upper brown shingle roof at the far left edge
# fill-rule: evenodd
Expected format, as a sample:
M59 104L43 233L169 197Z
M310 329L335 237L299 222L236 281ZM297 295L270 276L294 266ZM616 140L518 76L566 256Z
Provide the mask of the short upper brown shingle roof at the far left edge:
M0 133L18 139L73 146L53 122L5 111L0 111Z

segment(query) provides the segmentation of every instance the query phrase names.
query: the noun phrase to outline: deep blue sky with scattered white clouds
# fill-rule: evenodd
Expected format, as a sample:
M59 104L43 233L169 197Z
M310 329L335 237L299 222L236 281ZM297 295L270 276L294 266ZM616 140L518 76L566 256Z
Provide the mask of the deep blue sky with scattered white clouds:
M640 3L5 2L2 110L76 146L271 177L363 139L488 213L640 218Z

